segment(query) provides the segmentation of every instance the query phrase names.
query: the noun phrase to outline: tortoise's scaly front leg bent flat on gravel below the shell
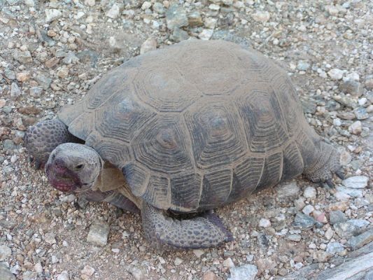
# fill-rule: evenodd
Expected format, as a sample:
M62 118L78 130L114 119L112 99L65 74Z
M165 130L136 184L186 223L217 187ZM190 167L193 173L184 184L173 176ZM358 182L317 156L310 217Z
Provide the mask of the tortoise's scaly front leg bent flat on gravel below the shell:
M156 248L209 248L232 241L230 232L211 212L179 221L143 202L141 218L146 239Z

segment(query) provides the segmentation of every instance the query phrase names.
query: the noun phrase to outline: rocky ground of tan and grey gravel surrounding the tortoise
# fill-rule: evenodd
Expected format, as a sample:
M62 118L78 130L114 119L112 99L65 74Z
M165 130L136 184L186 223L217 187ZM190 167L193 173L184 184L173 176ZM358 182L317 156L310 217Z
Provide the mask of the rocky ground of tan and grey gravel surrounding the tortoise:
M0 279L327 279L372 252L372 29L365 0L0 0ZM217 210L233 242L158 252L139 216L52 190L22 137L129 57L188 38L276 59L350 178L283 183Z

